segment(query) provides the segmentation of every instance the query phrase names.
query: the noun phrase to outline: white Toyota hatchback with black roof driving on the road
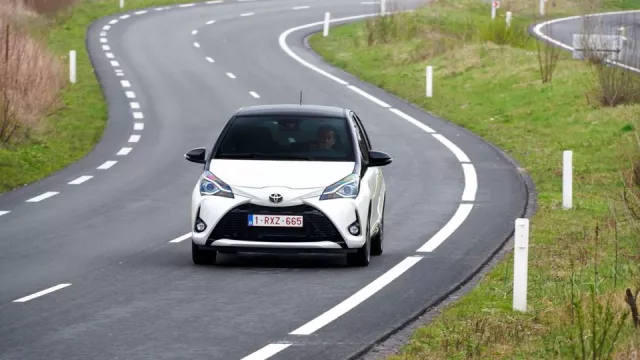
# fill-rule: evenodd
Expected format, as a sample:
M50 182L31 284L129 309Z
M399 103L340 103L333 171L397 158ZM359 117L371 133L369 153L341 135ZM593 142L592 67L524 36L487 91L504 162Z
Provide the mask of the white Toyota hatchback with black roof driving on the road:
M382 254L391 157L371 149L349 109L315 105L241 108L204 164L191 203L192 258L218 252L345 253L367 266Z

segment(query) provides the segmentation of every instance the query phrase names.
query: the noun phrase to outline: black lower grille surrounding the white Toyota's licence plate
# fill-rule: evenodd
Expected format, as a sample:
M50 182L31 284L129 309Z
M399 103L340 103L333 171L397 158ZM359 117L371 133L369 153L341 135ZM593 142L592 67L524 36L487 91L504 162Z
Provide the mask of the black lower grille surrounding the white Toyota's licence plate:
M247 226L248 214L302 215L303 227ZM343 242L338 229L322 212L309 205L268 207L243 204L229 211L209 235L209 240L231 239L273 242Z

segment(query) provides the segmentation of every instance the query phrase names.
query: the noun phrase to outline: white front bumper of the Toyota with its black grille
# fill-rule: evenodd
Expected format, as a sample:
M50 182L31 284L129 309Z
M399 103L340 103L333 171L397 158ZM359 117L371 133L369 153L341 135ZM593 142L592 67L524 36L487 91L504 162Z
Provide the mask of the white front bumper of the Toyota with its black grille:
M244 197L200 197L192 226L201 219L207 227L203 232L194 229L193 242L206 248L243 252L344 253L362 247L368 203L358 199L316 199L289 206L268 206ZM303 227L248 226L250 214L301 215ZM360 234L354 236L348 228L356 221Z

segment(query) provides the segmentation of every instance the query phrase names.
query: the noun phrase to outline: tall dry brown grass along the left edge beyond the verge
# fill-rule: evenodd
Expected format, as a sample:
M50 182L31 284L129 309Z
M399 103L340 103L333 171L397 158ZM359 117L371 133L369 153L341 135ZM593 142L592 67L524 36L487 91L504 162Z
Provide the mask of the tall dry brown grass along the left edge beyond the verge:
M0 146L37 130L65 84L60 61L25 28L35 18L20 3L0 7Z

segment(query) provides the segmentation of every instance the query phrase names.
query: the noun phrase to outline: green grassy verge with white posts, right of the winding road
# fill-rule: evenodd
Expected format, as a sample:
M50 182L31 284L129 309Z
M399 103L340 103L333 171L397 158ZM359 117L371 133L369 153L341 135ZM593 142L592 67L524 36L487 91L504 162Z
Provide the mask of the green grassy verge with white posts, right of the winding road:
M578 357L584 350L591 358L592 319L596 348L598 336L605 334L605 346L593 358L604 358L611 344L620 353L635 340L631 321L622 317L628 310L624 289L635 291L640 285L637 221L626 216L619 201L621 174L628 174L630 161L640 154L635 143L640 106L603 108L590 102L595 72L566 52L553 81L542 84L536 43L519 35L498 36L508 39L503 45L487 42L487 13L486 6L471 0L440 1L382 20L383 25L358 22L333 27L328 38L315 34L310 39L330 63L506 150L525 167L538 192L539 209L531 220L528 311L511 310L509 254L391 358L569 358L574 350ZM515 27L523 30L529 20L522 16ZM431 99L424 96L426 65L434 66ZM574 152L570 211L561 209L562 152L567 149ZM606 311L595 305L604 305L622 321L619 336L614 336L615 321L607 328ZM582 316L577 309L585 310ZM578 320L585 322L584 349Z

